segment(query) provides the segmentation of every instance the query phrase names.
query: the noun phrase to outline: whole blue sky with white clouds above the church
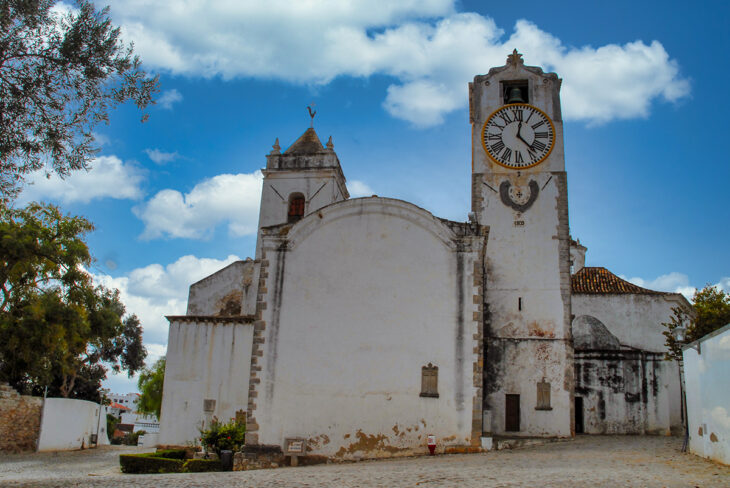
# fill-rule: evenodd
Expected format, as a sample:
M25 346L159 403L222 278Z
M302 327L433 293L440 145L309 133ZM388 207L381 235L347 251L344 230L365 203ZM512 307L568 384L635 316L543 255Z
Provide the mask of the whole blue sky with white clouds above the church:
M164 354L187 287L253 254L260 174L309 126L354 196L469 212L467 83L517 48L563 78L571 233L587 265L637 284L730 290L725 2L111 3L161 75L158 104L98 127L87 174L25 199L96 225L97 279L122 291ZM99 3L103 6L102 3ZM126 377L107 386L133 391Z

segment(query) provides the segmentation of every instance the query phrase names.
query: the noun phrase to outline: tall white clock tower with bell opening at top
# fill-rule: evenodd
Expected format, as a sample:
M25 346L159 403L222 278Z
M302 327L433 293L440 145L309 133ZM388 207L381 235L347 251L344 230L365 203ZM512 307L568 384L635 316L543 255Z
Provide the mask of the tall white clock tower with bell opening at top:
M472 212L489 227L483 430L573 433L568 190L561 80L507 64L469 85Z

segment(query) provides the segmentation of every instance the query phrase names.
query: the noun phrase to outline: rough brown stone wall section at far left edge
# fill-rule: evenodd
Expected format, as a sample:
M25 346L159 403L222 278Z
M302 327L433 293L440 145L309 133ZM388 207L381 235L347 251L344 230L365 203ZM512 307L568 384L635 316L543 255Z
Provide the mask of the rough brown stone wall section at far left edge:
M0 384L0 452L34 451L41 427L39 397L21 396Z

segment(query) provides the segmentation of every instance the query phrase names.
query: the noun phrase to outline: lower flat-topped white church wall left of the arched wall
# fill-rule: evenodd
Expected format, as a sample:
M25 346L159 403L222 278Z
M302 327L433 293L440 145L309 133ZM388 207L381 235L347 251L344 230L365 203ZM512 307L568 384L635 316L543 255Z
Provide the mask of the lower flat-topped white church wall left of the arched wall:
M242 318L177 317L170 322L159 443L185 445L213 416L245 411L253 325ZM216 401L206 415L203 400Z

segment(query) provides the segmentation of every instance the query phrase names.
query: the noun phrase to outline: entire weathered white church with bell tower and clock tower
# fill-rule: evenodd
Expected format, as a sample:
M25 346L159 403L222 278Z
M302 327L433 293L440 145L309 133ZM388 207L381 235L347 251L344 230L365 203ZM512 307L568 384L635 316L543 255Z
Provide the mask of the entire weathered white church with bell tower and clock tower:
M304 439L336 459L422 453L428 435L448 451L681 426L661 322L689 304L583 268L560 84L516 51L470 83L466 222L349 198L312 128L277 141L255 257L193 284L186 315L168 317L160 443L213 417L245 419L247 445Z

